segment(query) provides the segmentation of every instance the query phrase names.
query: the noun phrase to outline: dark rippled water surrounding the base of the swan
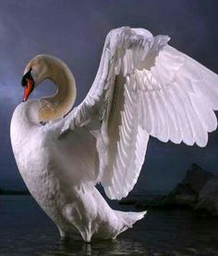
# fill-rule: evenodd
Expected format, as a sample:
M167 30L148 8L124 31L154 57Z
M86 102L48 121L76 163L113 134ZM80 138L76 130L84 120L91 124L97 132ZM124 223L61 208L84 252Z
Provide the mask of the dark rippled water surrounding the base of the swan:
M62 242L31 197L2 196L0 255L218 255L218 221L197 220L189 211L149 211L115 241L85 244L78 236Z

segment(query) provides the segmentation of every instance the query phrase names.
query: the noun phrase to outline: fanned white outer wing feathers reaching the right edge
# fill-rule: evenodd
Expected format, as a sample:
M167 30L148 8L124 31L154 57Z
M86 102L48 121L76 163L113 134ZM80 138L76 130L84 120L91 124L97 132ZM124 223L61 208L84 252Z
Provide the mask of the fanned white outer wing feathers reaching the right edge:
M145 90L145 126L163 142L205 147L217 127L218 76L166 45L151 70L137 72Z

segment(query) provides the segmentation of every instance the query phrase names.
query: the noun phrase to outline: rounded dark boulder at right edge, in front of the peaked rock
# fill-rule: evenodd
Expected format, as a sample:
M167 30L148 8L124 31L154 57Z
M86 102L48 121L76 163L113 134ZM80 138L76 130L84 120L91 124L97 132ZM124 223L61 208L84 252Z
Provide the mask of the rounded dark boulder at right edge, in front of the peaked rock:
M195 213L200 217L218 217L218 178L210 180L200 191Z

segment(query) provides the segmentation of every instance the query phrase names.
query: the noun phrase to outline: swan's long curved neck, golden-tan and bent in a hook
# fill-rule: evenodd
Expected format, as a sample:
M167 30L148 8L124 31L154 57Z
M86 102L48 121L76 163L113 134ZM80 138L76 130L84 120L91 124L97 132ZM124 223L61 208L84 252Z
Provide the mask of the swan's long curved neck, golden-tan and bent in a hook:
M48 58L46 78L52 80L57 91L54 96L39 99L39 121L46 122L64 117L72 109L77 90L67 65L57 58Z

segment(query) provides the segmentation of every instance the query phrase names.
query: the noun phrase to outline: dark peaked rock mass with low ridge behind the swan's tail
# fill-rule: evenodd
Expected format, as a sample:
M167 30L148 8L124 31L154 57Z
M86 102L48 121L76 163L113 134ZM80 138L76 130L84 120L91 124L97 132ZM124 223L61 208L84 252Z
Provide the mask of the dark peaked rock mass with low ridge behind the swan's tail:
M134 204L140 210L186 208L198 215L218 216L218 178L193 163L186 176L168 195L146 199L123 199L120 204Z

